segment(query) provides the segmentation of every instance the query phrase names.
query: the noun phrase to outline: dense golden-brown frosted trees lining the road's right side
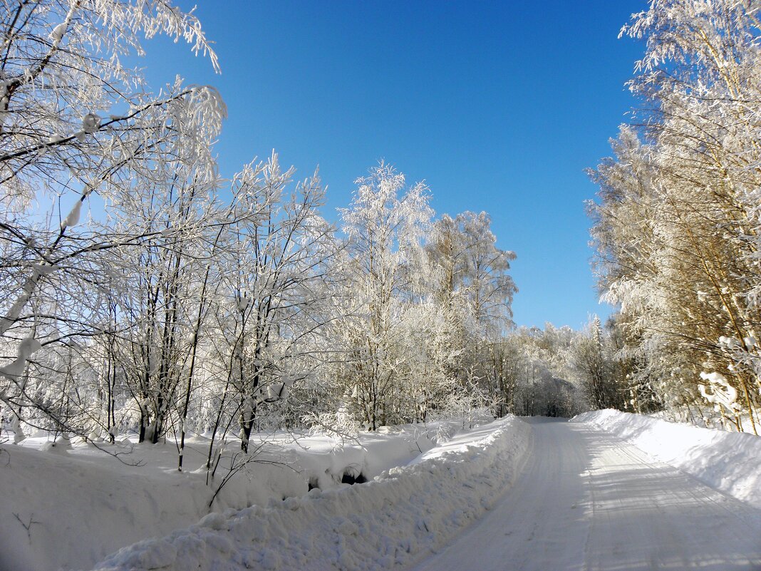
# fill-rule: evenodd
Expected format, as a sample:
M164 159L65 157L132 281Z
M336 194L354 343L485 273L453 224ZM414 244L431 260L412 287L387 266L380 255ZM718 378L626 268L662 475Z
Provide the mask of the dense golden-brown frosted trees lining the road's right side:
M600 288L621 306L632 398L693 416L761 411L761 3L655 0L623 34L645 40L622 126L592 173Z

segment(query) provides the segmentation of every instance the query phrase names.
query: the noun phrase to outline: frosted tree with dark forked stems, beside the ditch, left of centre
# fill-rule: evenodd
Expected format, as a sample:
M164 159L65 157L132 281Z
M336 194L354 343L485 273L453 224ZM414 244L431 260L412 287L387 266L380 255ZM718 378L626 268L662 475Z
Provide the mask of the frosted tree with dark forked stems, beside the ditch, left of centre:
M263 407L312 375L322 360L317 338L333 317L325 307L326 266L337 244L317 213L324 190L317 174L289 190L293 174L272 155L234 180L239 207L258 213L231 228L221 276L230 296L221 330L243 451Z

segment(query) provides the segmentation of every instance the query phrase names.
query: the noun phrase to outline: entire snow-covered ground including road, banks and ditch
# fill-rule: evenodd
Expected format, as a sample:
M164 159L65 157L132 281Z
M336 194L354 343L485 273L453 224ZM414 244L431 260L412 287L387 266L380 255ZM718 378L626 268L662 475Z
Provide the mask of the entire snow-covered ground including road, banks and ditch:
M0 569L761 569L755 436L612 410L461 427L274 435L211 514L169 447L5 445Z

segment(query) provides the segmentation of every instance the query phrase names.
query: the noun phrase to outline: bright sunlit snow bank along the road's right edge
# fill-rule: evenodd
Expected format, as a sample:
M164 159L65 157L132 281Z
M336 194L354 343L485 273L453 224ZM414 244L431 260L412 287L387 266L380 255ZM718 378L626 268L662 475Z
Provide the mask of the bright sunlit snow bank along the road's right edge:
M596 410L572 419L612 432L715 490L761 508L761 438Z

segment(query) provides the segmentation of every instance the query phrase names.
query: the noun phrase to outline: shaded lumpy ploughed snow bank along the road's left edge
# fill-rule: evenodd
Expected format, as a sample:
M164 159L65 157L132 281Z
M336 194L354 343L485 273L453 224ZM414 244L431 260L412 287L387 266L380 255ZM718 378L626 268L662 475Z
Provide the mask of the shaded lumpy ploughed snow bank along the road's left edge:
M436 550L514 479L530 426L514 417L461 435L374 481L207 515L126 547L101 571L390 569Z

